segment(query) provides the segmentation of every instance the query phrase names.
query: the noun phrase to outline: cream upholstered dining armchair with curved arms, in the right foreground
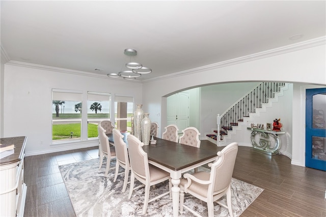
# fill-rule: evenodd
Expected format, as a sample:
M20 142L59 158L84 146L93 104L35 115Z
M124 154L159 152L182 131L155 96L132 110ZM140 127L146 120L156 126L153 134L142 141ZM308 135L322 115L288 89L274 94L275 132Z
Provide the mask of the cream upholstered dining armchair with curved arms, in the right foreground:
M218 152L218 158L213 163L210 173L200 171L194 174L185 173L180 182L180 213L183 213L183 207L195 215L196 211L185 206L184 193L191 194L196 198L207 203L208 216L214 216L213 202L226 195L227 205L216 201L216 203L227 208L229 215L233 217L231 203L231 178L238 152L238 143L233 142Z

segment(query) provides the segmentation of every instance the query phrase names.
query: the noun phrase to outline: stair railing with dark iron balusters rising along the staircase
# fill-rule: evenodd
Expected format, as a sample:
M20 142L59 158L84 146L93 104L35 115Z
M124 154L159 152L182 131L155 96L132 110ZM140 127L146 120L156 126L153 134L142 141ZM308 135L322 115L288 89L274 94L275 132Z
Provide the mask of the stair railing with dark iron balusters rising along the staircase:
M273 98L274 93L280 91L284 82L261 82L237 102L231 105L221 116L221 130L227 134L232 126L243 117L249 117L249 113L255 112L255 108L261 108L262 103L267 103L268 98ZM220 130L219 130L220 132Z

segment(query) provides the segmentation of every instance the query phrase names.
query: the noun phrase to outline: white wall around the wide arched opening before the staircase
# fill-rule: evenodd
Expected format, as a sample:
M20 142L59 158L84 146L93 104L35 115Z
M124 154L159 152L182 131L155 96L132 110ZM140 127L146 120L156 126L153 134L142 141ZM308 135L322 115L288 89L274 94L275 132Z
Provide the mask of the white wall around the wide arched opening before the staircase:
M148 108L148 112L159 112L161 114L160 120L157 122L160 128L164 129L166 127L164 121L166 120L166 97L175 92L207 84L242 81L280 81L325 85L325 59L325 45L319 45L247 63L148 81L143 84L143 104L155 105ZM299 85L301 86L301 84ZM151 91L153 89L155 91ZM298 98L301 97L302 93L298 95L293 92L293 98L295 99L292 100L292 114L297 114L299 111L300 115L302 115L300 118L305 118L305 113L300 111L302 101L298 100ZM301 135L305 133L302 128L300 130L294 129L299 124L302 125L302 122L298 123L297 119L298 117L292 118L293 129L292 132L289 132L289 139L301 138ZM201 125L203 125L203 122ZM199 130L201 134L205 133L202 129ZM294 159L297 165L304 165L304 153L295 152L297 149L302 149L302 147L298 147L299 143L297 142L292 144L292 161Z

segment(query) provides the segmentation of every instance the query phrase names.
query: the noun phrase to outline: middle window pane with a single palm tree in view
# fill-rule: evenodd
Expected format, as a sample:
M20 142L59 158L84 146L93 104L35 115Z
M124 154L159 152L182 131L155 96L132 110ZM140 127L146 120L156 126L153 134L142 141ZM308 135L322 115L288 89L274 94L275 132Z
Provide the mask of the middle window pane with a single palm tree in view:
M87 121L88 138L98 136L97 125L101 120L110 119L111 94L102 92L88 92L87 94Z

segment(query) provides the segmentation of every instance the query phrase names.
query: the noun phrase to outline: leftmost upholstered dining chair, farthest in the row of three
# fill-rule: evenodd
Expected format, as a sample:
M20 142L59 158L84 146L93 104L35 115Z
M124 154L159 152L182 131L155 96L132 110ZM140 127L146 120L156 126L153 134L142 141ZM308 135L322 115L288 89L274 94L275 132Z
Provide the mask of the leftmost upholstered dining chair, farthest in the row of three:
M113 158L116 158L116 150L114 146L110 146L108 143L108 137L105 134L104 128L101 127L101 125L98 125L98 137L99 137L99 152L100 152L100 166L98 169L101 169L103 164L103 157L106 157L106 170L105 170L105 176L107 176L108 170L110 168L110 161Z

